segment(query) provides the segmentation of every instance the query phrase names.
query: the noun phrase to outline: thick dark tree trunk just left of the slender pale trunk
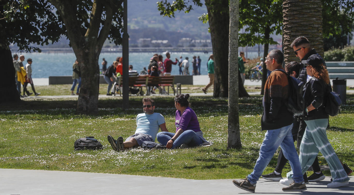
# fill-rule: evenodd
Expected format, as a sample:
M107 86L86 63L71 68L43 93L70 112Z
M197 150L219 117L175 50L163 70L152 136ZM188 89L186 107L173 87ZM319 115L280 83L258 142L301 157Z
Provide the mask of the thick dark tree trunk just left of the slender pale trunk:
M228 97L229 1L205 0L205 5L208 10L211 44L214 54L215 79L213 96ZM244 86L240 85L239 89L242 88L244 89ZM239 91L239 97L246 96L249 96L246 90Z

